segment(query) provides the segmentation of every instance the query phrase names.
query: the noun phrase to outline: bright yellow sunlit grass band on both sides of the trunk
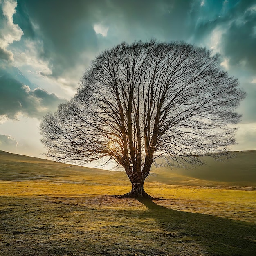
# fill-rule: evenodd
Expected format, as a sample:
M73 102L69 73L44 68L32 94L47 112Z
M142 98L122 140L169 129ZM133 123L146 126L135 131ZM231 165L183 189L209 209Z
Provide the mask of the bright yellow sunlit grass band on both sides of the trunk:
M115 175L87 181L91 175L72 177L66 181L5 181L0 182L0 196L62 196L120 195L130 191L128 181L116 180ZM123 176L120 173L118 176ZM99 177L98 177L99 178ZM125 176L122 177L125 179ZM67 177L66 177L67 179ZM83 182L79 181L84 180ZM159 205L170 209L256 222L256 191L234 190L216 187L166 185L148 182L146 191L160 200Z

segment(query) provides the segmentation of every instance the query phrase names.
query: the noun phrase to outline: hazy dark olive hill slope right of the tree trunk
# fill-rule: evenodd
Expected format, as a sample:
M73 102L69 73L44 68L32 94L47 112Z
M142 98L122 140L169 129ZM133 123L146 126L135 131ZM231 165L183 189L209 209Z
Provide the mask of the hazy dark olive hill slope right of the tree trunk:
M157 179L163 183L170 183L171 175L207 180L216 183L228 182L234 186L256 186L256 150L231 152L230 159L217 161L212 157L203 156L202 166L193 168L170 168L169 166L152 168L152 172L159 173Z

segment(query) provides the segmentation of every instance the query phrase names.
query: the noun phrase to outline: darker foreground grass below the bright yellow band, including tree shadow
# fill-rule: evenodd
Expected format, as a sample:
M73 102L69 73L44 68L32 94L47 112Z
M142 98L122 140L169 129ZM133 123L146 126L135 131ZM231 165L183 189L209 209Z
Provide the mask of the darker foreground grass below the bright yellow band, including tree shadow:
M0 202L1 256L254 256L256 252L256 224L175 211L157 200L4 196Z

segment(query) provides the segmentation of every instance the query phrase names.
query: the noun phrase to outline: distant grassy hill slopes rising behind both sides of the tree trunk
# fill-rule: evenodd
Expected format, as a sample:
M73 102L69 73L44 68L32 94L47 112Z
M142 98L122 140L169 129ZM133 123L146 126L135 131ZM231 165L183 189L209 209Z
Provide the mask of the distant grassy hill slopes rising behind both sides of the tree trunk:
M233 152L234 157L216 161L202 157L206 163L193 168L152 167L146 182L200 186L250 186L256 187L256 151ZM119 183L128 182L123 172L72 166L46 159L0 151L0 180L66 179L90 175L91 180L112 176ZM103 177L101 177L103 175ZM82 180L81 180L82 182Z

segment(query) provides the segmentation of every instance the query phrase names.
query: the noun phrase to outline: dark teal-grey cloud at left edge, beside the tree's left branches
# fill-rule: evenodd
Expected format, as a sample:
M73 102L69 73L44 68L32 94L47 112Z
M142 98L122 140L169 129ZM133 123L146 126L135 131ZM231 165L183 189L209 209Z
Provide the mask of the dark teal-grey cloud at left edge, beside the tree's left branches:
M28 117L41 118L63 101L56 94L41 88L31 90L5 70L0 70L0 116L16 119L22 113Z

